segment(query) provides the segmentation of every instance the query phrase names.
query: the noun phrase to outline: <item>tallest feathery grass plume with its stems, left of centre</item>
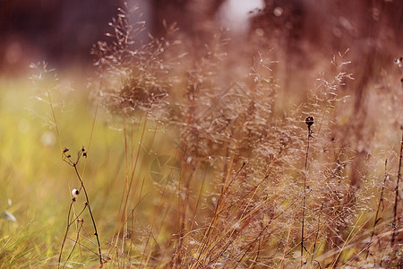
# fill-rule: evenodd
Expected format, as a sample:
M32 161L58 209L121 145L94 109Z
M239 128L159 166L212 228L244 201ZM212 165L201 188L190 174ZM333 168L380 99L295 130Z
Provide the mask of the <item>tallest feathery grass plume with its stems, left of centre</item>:
M180 42L172 39L176 25L165 25L167 37L156 39L148 35L143 42L141 35L145 31L145 22L138 13L138 7L119 9L116 18L109 24L112 31L107 33L107 41L99 41L92 50L97 57L95 65L99 69L102 89L99 91L102 104L113 116L119 129L124 134L125 179L121 204L116 221L116 237L111 240L109 256L123 264L130 264L134 241L140 240L144 234L144 245L140 264L148 264L150 251L155 240L152 233L159 219L155 218L148 232L137 229L141 227L136 213L137 206L143 198L144 179L138 179L140 173L142 150L146 141L147 128L154 128L154 136L158 128L169 123L170 91L176 83L173 68L177 67L177 56L170 53ZM148 138L147 138L148 139ZM150 141L152 147L153 139ZM150 150L149 150L150 152ZM164 193L158 205L160 210L165 203ZM156 214L156 217L158 214ZM135 235L134 235L135 231ZM126 258L128 257L128 259Z

